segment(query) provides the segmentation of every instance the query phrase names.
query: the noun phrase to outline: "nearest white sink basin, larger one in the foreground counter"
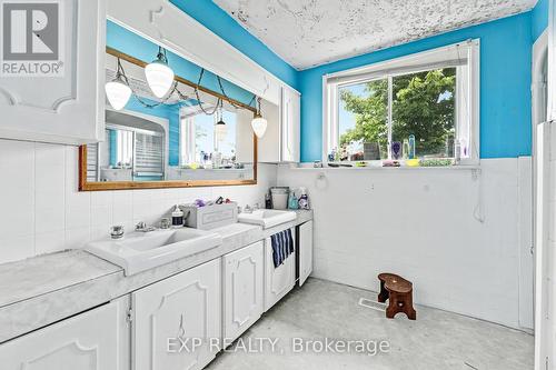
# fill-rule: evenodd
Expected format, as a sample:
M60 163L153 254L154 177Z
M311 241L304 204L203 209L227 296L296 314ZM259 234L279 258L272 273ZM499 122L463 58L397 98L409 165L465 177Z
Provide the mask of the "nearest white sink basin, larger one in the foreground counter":
M92 241L86 250L123 268L126 276L199 253L222 243L215 232L180 228L132 232L119 240Z

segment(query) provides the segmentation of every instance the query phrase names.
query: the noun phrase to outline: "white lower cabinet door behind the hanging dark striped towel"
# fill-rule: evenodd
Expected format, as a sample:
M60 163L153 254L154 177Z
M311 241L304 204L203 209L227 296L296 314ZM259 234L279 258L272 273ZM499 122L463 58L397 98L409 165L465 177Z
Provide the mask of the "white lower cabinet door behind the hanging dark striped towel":
M291 229L296 240L295 228ZM297 246L296 246L297 248ZM282 299L296 283L296 253L288 256L286 261L275 268L272 260L272 242L265 240L265 312Z

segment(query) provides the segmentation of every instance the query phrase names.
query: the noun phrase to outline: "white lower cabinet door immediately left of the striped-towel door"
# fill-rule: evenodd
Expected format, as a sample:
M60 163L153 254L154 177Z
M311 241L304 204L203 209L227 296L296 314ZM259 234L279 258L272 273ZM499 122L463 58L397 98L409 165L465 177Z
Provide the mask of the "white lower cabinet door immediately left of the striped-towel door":
M264 242L224 257L224 338L237 339L262 314Z

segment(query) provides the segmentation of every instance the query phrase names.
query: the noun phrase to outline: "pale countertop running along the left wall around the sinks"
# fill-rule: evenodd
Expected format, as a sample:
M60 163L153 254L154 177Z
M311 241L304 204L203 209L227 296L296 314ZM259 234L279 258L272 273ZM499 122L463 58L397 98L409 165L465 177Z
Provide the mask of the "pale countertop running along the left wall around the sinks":
M0 342L42 328L137 289L312 219L297 211L295 221L262 230L235 223L219 232L222 244L130 277L123 270L82 250L39 256L0 264Z

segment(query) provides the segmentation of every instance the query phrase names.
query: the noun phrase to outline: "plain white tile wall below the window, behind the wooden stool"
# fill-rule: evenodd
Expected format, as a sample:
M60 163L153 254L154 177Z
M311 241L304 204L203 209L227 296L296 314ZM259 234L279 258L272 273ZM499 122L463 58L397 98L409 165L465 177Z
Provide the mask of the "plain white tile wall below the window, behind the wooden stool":
M377 274L395 272L418 303L518 327L518 251L530 248L519 244L518 160L483 160L471 174L280 167L278 184L309 189L314 276L377 291Z

